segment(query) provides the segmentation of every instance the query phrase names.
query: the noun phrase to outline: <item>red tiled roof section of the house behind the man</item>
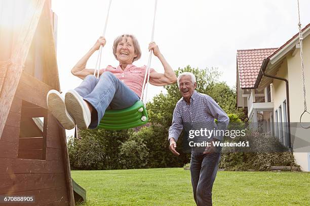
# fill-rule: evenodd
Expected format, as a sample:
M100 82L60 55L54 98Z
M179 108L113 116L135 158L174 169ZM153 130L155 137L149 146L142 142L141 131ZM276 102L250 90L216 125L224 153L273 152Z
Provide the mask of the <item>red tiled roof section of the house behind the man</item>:
M237 50L237 65L242 89L253 88L261 64L265 58L278 48Z

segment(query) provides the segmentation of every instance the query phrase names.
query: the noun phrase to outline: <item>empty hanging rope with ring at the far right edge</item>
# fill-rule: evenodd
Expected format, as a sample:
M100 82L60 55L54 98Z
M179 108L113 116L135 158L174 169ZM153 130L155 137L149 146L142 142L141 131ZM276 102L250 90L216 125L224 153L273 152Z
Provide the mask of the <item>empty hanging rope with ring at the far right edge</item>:
M301 23L300 23L300 11L299 11L299 0L297 0L297 5L298 5L298 29L299 29L299 45L300 45L300 59L301 59L301 76L302 76L302 91L303 91L303 107L304 107L304 111L300 116L300 126L304 129L309 129L309 126L304 126L301 123L301 118L303 116L303 114L308 113L307 111L307 104L306 104L306 90L305 90L305 84L304 84L304 71L303 71L303 51L302 51L302 30L301 30Z

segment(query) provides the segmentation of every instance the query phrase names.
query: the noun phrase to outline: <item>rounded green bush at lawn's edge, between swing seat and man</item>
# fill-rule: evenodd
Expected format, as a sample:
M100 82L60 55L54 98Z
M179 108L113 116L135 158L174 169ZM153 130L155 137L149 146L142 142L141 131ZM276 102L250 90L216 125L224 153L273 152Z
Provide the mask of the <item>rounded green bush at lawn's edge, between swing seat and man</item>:
M123 169L139 169L147 165L148 149L142 141L128 140L120 147L120 164Z

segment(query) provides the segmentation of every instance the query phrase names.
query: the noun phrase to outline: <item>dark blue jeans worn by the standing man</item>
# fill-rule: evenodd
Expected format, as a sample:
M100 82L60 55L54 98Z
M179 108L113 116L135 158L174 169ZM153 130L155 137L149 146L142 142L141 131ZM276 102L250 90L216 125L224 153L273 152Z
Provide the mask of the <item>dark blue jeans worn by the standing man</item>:
M198 206L212 205L212 187L219 161L220 153L191 152L191 185Z

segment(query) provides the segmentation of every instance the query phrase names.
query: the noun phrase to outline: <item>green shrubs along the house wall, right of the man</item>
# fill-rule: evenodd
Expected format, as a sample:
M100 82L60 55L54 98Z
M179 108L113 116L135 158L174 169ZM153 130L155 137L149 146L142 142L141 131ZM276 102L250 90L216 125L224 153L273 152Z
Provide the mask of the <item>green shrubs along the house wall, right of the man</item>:
M271 166L297 166L293 153L272 136L249 130L245 137L235 138L234 141L249 141L250 148L224 147L219 168L268 171Z

